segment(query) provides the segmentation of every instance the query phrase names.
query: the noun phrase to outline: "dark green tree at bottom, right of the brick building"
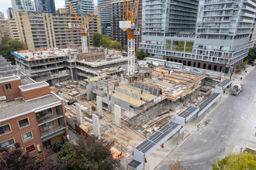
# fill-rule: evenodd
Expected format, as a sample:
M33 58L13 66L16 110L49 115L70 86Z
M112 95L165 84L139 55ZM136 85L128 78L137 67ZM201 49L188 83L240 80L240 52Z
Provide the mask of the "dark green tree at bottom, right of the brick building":
M112 158L112 143L103 143L95 138L78 138L77 145L66 142L61 148L60 158L71 169L114 169L119 161Z

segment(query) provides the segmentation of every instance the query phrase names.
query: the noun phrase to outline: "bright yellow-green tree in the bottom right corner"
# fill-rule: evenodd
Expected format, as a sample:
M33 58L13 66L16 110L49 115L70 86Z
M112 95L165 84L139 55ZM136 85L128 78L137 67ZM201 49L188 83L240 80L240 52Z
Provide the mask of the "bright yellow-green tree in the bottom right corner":
M218 159L216 164L213 163L213 170L215 169L256 169L256 155L248 153L228 155Z

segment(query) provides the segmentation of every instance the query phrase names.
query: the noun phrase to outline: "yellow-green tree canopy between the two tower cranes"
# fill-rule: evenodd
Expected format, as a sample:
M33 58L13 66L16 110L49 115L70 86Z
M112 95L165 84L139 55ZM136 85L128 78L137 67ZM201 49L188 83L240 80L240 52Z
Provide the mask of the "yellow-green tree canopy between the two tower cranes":
M121 43L113 41L108 35L101 35L98 32L92 36L92 45L95 47L103 46L107 49L121 49Z

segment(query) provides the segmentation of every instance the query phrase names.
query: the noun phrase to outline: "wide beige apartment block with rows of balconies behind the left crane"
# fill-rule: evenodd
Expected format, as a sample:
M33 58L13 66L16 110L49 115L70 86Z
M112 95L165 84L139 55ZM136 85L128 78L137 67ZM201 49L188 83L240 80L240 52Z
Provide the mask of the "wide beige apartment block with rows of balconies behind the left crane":
M81 46L81 34L76 30L69 30L68 23L75 23L75 16L60 10L57 14L38 12L15 12L14 16L19 32L19 38L25 42L29 50L37 49L65 49L71 45ZM82 17L85 20L86 16ZM92 45L95 32L101 33L101 19L96 17L88 25L88 36Z

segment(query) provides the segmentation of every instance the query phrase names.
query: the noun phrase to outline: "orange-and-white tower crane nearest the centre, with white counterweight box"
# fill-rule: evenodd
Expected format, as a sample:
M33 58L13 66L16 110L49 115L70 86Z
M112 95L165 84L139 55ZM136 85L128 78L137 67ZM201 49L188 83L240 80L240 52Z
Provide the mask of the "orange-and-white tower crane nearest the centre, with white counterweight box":
M128 36L128 75L135 72L135 38L139 30L135 28L137 11L140 0L123 0L123 21L119 21L119 28L127 32Z

